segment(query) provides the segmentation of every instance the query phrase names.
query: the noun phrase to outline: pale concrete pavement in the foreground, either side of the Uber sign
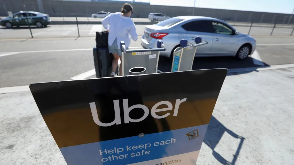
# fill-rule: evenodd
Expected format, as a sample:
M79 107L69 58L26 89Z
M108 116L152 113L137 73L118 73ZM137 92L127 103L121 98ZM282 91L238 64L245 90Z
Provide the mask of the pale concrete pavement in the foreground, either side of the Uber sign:
M227 76L197 164L292 164L294 69ZM66 165L29 91L0 94L0 164Z

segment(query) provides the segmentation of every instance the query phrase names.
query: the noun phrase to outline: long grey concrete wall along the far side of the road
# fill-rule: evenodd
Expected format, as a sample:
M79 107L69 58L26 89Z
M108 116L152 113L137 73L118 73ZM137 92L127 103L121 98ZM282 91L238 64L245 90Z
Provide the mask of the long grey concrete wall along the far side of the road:
M13 13L19 10L24 10L20 0L2 0L6 4L8 11ZM9 3L8 3L9 2ZM17 2L17 3L16 3ZM1 3L1 1L0 1ZM27 10L39 11L36 0L25 0ZM120 11L123 3L110 3L110 2L85 2L85 1L55 1L55 0L42 0L44 12L51 17L65 16L65 17L91 17L91 14L98 11L118 12ZM17 4L17 5L15 5ZM31 4L31 5L30 5ZM32 6L34 5L34 7ZM147 18L149 13L160 12L168 16L183 16L192 15L192 7L177 7L177 6L159 6L149 4L132 4L134 7L134 17L139 14L139 18ZM2 7L3 8L3 7ZM272 23L273 18L275 23L288 23L290 14L277 14L277 13L264 13L252 11L236 11L236 10L222 10L222 9L205 9L195 8L194 15L208 16L226 21L242 21L242 22L260 22L262 18L263 23ZM0 15L7 15L5 11L1 10ZM251 16L250 16L251 15ZM250 18L250 19L249 19ZM290 24L294 23L294 17L290 19Z

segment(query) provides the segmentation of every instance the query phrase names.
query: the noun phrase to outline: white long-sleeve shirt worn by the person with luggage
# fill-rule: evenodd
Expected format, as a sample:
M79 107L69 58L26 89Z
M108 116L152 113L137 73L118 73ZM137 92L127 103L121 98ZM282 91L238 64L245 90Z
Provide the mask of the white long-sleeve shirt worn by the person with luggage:
M136 33L136 27L130 17L122 16L120 12L111 13L101 21L105 29L108 28L108 44L111 46L116 38L117 46L120 48L120 42L124 41L126 47L131 44L131 39L137 41L138 34Z

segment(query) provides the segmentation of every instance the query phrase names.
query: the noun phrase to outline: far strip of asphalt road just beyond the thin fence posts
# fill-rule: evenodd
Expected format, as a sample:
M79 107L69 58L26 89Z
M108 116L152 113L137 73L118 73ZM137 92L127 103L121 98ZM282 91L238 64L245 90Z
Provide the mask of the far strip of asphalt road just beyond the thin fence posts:
M143 34L143 29L146 25L136 25L139 35ZM273 27L272 26L253 26L251 29L249 26L234 26L241 33L252 36L270 36ZM101 24L93 25L49 25L46 28L32 27L31 32L34 38L66 38L66 37L95 37L96 31L105 30ZM290 36L293 31L293 27L277 27L273 31L273 36ZM27 39L31 38L31 32L28 27L12 28L8 29L0 27L0 39ZM294 34L292 34L294 35Z

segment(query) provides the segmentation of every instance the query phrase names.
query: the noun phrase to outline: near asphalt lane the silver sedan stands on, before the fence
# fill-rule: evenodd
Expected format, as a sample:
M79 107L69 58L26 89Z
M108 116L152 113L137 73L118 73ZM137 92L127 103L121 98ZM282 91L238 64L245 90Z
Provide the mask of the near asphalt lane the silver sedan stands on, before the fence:
M193 69L248 68L294 63L294 37L257 37L257 52L243 61L231 57L195 58ZM0 41L0 87L70 80L94 69L95 38L45 38ZM130 48L141 48L140 39ZM15 53L16 52L16 53ZM169 72L161 57L158 69ZM95 78L95 75L89 78Z

